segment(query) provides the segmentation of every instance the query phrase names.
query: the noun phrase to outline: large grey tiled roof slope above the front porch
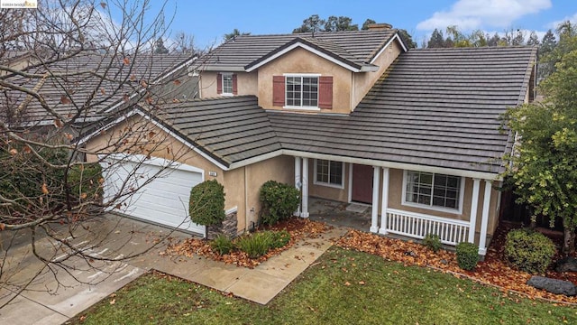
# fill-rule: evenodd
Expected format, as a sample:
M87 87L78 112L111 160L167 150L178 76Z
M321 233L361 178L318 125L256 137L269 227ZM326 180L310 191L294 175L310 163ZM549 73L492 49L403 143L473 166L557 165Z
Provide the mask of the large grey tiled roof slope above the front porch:
M502 172L499 114L522 104L536 48L401 53L351 116L269 111L283 149Z

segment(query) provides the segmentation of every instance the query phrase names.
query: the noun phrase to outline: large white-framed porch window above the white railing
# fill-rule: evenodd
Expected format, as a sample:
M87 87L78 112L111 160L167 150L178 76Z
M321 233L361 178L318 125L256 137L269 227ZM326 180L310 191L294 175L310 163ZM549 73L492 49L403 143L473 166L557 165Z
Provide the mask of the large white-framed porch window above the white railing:
M461 209L462 178L431 172L405 173L403 203L431 208Z

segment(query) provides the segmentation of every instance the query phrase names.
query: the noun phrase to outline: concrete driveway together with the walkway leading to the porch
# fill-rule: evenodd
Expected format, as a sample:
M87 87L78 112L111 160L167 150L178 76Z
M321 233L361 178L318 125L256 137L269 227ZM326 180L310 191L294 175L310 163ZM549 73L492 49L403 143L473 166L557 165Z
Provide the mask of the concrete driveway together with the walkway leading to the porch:
M77 245L100 242L99 248L93 249L93 253L100 256L134 255L150 248L161 237L170 236L177 240L190 237L114 215L95 220L93 226L92 229L97 226L98 231L87 231L75 240ZM266 304L345 232L345 228L334 228L321 237L301 240L253 269L226 265L202 256L160 255L166 248L163 242L124 262L96 261L88 266L86 260L70 259L67 264L73 272L66 274L60 270L57 275L34 258L23 241L24 245L15 247L10 254L12 257L5 262L12 265L12 268L7 268L12 273L8 281L0 283L0 303L14 297L18 285L33 274L40 272L41 275L34 279L30 290L0 309L0 324L61 324L151 269ZM44 245L50 247L48 241Z

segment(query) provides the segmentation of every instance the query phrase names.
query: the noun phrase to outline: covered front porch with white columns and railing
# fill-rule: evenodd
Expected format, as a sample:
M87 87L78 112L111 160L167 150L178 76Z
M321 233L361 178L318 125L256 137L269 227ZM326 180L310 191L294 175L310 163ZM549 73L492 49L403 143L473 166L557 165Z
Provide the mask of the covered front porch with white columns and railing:
M435 174L437 171L423 166L403 166L404 169L401 170L365 164L363 168L365 170L368 168L370 177L363 180L363 187L365 190L369 190L371 201L369 203L361 203L360 205L365 206L366 209L359 213L346 209L349 204L355 203L352 191L354 178L357 174L353 172L353 169L358 168L357 166L359 165L352 162L341 162L343 171L339 172L342 172L343 179L348 179L348 181L342 182L341 191L348 191L348 200L319 200L314 198L316 195L310 195L309 189L311 182L315 183L318 181L316 179L319 177L316 166L317 160L307 157L295 157L295 185L301 190L302 194L301 205L297 212L298 216L302 218L310 217L363 231L371 231L380 235L423 239L427 234L435 234L441 238L441 242L444 245L456 246L458 243L465 241L476 243L479 246L480 255L486 254L487 238L491 235L490 233L488 234L490 210L495 208L494 204L491 206L493 190L492 181L489 178L481 179L473 178L468 174L460 175L459 171L441 171L447 172L447 174L453 172L456 175L452 177L461 180L459 211L458 213L454 212L453 218L451 215L447 217L446 211L419 207L416 209L416 204L405 201L407 197L405 189L408 188L406 183L408 171L421 169L424 170L423 173L430 175ZM314 167L314 171L309 171L309 163ZM335 166L338 166L338 164L335 164ZM345 169L348 177L345 176ZM395 173L394 177L391 176L391 171ZM401 175L405 175L400 177L400 181L399 172L402 172ZM437 172L437 174L441 177L440 172ZM309 181L309 178L312 180ZM393 179L392 181L391 178ZM467 186L466 195L464 195L465 186ZM334 189L329 188L329 190ZM400 193L401 191L402 194ZM463 197L466 198L463 199ZM463 201L466 204L463 204ZM494 203L494 201L498 200L494 198L492 201ZM493 212L494 215L495 213Z

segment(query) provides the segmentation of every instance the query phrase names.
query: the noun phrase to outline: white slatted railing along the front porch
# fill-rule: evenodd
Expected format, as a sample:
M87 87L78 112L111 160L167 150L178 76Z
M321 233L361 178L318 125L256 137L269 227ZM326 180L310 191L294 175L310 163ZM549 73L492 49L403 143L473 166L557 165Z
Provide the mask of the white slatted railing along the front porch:
M439 218L398 209L387 209L387 232L423 239L426 234L435 234L446 245L456 246L467 241L469 221Z

